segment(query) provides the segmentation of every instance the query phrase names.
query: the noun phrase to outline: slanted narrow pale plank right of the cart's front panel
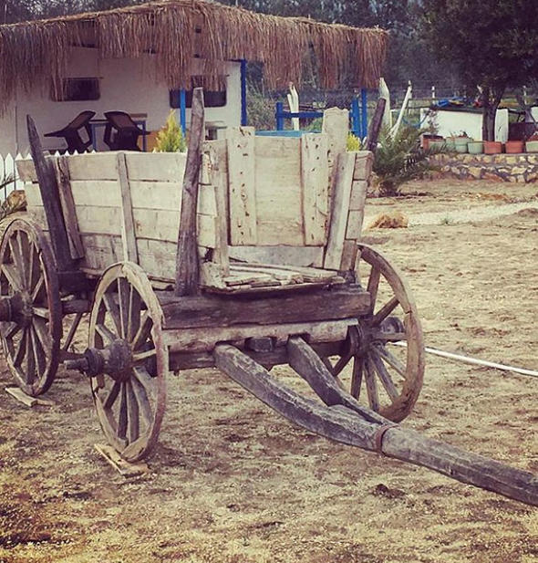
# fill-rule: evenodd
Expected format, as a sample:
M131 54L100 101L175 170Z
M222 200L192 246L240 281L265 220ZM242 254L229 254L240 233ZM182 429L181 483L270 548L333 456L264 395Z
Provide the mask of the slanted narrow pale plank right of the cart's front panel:
M346 237L347 214L353 170L355 168L355 154L344 152L340 154L336 164L336 175L332 193L331 223L326 246L324 267L337 270L340 267L344 239Z

